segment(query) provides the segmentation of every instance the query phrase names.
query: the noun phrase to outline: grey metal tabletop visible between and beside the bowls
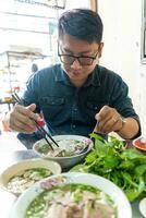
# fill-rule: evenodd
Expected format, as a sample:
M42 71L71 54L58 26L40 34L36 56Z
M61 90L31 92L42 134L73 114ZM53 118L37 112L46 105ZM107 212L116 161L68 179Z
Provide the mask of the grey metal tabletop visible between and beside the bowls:
M17 150L17 152L0 152L0 172L4 170L7 167L11 166L14 162L17 162L23 159L29 159L29 158L37 158L38 156L32 150ZM2 190L0 191L0 202L2 202L2 211L1 216L2 218L9 218L9 213L11 210L11 207L16 201L16 197L14 197L11 194L4 193ZM138 210L138 201L131 204L132 210L133 210L133 217L132 218L144 218Z

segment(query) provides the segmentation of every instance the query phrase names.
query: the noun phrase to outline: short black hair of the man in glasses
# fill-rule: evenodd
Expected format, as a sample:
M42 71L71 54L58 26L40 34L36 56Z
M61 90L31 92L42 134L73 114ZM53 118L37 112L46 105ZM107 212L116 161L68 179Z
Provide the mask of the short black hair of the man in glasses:
M89 9L72 9L59 19L59 38L64 34L90 43L100 43L104 25L98 13Z

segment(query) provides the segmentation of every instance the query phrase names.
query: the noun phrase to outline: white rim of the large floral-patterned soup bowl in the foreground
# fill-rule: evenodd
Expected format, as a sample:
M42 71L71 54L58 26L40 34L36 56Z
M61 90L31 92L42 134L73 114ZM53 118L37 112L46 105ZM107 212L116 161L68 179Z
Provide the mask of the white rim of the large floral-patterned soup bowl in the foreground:
M96 186L111 196L118 208L118 218L132 218L131 205L124 195L124 193L109 180L89 173L69 172L62 173L66 178L65 183L83 183ZM52 175L49 179L60 175ZM42 192L40 186L41 182L36 183L28 189L23 195L21 195L17 202L14 204L10 218L24 218L26 208L29 203ZM59 217L56 217L59 218Z

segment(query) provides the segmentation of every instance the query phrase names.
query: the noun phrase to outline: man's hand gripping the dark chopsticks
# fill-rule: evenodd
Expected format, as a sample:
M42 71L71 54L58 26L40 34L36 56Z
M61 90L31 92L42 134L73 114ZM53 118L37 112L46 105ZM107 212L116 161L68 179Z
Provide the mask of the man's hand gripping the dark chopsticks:
M8 112L5 116L5 121L8 126L12 131L23 132L23 133L33 133L37 130L35 122L40 119L39 114L34 113L36 105L32 104L27 107L15 105L13 110Z

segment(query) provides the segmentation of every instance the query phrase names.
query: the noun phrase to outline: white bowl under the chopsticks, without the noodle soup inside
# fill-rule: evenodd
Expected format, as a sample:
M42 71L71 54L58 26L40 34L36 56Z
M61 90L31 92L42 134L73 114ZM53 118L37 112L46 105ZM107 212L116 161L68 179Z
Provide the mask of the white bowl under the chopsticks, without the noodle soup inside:
M59 162L63 169L64 168L69 169L71 167L73 167L74 165L80 164L94 146L94 143L90 138L81 136L81 135L57 135L57 136L53 136L53 140L57 142L62 141L62 140L75 140L75 141L81 141L81 142L85 142L85 143L88 142L88 145L86 145L87 149L83 150L80 154L76 154L73 156L68 156L68 157L66 156L65 157L52 157L52 156L48 156L48 155L40 153L38 150L38 148L40 148L42 145L46 144L45 140L40 140L34 144L33 149L37 153L37 155L39 155L41 158Z

